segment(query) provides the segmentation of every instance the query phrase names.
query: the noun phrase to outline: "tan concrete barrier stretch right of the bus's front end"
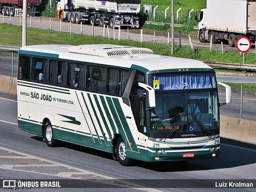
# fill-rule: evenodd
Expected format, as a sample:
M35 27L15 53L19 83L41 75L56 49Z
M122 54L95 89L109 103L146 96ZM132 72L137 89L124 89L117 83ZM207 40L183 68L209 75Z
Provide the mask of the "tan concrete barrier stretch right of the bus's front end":
M220 116L220 136L256 144L256 121Z

